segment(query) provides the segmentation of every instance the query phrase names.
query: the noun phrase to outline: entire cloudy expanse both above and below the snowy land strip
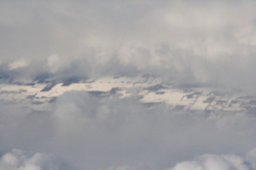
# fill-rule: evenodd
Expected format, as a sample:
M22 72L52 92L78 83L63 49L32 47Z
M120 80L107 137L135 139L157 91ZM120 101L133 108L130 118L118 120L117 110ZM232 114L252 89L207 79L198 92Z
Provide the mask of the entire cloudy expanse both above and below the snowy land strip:
M1 1L0 74L27 82L157 74L255 92L253 0ZM61 95L47 113L1 105L0 170L256 169L255 120ZM253 114L253 113L250 113Z

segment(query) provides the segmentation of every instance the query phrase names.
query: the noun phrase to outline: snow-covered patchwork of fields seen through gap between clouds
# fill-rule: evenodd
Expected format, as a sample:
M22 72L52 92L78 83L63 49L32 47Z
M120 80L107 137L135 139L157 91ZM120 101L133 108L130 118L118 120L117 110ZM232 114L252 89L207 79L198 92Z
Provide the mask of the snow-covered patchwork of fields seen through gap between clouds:
M67 91L86 91L99 97L118 96L125 99L137 95L140 103L165 104L175 110L247 111L256 108L256 99L236 90L217 88L178 88L164 83L160 77L98 77L71 83L0 84L1 105L20 105L32 111L50 108L54 99ZM134 94L134 92L136 92ZM133 94L132 94L133 93Z

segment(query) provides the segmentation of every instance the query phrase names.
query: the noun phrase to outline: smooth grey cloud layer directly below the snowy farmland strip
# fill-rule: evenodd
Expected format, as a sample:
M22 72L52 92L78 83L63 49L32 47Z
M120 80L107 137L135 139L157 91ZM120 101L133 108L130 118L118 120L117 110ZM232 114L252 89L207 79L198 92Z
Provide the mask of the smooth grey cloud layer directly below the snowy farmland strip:
M76 91L58 98L49 113L5 108L3 153L14 146L53 153L81 169L166 169L207 153L244 156L255 147L255 122L246 113L211 118L170 112L165 105L148 110L136 96L97 99Z

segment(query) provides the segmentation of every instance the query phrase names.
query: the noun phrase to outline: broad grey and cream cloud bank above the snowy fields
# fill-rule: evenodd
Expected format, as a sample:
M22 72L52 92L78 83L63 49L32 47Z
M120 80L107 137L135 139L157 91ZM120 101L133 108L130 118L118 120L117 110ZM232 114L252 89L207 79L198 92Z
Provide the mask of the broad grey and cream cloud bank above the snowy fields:
M143 72L253 90L255 6L249 0L1 2L1 68L15 78Z

